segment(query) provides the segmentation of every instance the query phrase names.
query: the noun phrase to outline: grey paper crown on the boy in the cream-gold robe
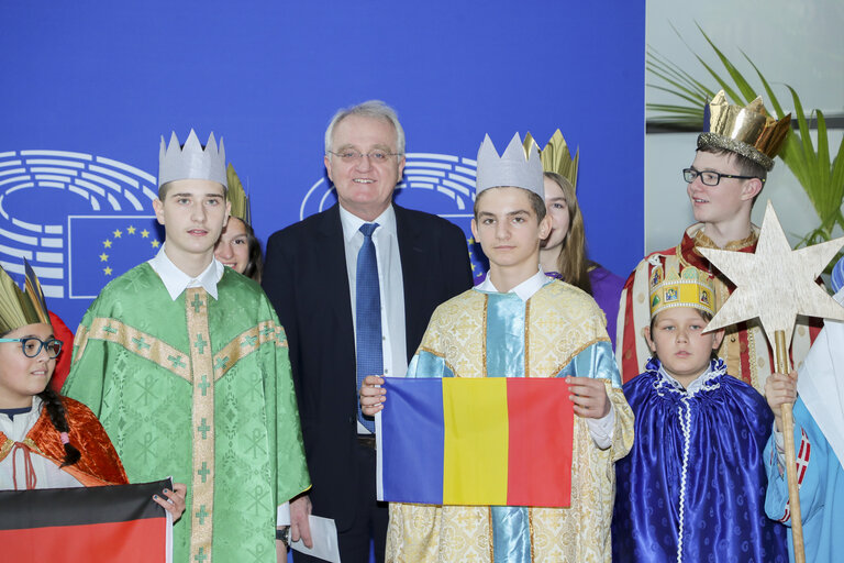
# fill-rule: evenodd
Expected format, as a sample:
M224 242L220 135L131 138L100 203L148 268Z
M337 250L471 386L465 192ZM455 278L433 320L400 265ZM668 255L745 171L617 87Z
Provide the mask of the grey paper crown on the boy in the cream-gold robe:
M476 196L485 189L504 186L533 191L545 201L540 151L534 145L530 155L525 154L519 133L513 135L501 156L498 156L489 135L484 137L478 151Z

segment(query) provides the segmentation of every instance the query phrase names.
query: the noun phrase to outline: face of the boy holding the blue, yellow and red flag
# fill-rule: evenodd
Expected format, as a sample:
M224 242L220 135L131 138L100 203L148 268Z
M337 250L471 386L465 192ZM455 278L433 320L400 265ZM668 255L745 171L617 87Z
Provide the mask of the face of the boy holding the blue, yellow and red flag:
M536 274L540 241L548 235L551 218L538 220L531 192L489 188L478 196L475 210L471 233L489 258L490 269L517 273L514 277L522 279Z

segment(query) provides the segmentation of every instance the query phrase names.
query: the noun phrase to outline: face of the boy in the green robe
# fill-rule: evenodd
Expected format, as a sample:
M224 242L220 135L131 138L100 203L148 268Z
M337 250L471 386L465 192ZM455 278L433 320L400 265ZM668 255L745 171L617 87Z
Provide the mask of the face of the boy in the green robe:
M201 273L211 263L229 218L231 203L225 200L223 185L200 179L171 181L164 201L156 199L153 207L167 234L167 257L187 274Z

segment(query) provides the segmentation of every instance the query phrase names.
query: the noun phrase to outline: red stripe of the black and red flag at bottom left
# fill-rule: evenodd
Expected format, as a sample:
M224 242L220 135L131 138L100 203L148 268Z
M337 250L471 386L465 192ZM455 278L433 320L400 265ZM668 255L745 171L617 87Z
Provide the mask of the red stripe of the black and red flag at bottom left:
M20 563L149 563L165 561L167 520L0 530L2 560Z

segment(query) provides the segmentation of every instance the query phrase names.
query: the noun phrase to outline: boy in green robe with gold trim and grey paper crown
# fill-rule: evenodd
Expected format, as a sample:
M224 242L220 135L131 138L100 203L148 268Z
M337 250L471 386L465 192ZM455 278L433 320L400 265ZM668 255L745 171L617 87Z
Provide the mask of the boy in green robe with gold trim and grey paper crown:
M174 560L274 562L277 510L310 487L285 332L260 287L214 260L225 153L162 139L166 241L82 319L63 393L99 417L131 482L188 484Z

